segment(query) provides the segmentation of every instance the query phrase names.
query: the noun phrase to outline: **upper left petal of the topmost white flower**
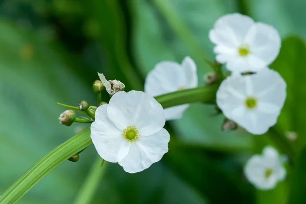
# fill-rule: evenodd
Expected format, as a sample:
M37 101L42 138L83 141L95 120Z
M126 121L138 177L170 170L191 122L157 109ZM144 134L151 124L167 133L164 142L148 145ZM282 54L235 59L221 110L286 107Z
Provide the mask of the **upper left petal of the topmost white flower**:
M215 22L209 38L215 44L238 47L253 24L253 19L248 16L239 13L227 14Z

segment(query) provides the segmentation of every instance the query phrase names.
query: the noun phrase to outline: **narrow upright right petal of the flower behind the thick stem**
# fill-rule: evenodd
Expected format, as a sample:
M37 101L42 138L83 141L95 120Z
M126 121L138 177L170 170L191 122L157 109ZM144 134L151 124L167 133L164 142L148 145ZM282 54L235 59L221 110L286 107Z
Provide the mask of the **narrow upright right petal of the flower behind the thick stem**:
M185 73L186 88L194 88L198 85L198 78L196 73L196 65L194 61L189 57L185 57L182 62L182 69Z

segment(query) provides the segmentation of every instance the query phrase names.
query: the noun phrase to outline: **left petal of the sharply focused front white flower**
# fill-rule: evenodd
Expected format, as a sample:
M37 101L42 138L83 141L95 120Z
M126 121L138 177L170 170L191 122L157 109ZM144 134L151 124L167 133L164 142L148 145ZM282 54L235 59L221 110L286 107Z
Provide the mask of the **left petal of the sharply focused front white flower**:
M101 158L109 162L118 162L129 152L130 143L108 118L107 107L108 105L103 105L97 108L95 121L90 127L90 137Z

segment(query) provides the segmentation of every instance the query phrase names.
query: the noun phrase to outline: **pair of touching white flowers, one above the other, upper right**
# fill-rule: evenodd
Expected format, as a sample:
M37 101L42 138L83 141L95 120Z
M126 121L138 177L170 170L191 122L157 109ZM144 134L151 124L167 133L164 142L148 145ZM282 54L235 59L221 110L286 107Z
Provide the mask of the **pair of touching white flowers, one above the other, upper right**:
M267 67L279 53L279 34L270 25L235 13L219 18L209 37L216 45L216 60L232 71L217 92L218 107L249 133L266 133L286 98L285 81Z

